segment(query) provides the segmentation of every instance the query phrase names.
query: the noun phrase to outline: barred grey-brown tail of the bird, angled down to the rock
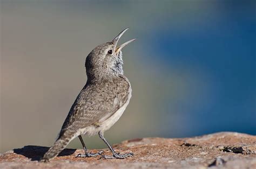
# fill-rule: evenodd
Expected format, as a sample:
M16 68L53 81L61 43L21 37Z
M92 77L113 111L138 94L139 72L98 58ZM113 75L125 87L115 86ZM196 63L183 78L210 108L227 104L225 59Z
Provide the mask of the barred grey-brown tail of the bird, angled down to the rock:
M41 162L48 162L50 159L56 157L62 150L65 149L65 147L69 144L69 142L75 138L75 135L72 134L69 136L66 135L66 133L62 136L60 136L55 143L50 147L50 149L44 154Z

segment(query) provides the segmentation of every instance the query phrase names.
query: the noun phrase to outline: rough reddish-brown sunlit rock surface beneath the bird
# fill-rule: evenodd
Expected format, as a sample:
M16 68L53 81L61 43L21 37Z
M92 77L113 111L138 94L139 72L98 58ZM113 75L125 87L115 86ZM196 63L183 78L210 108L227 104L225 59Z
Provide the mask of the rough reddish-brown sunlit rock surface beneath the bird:
M193 138L138 138L114 148L121 153L131 151L134 157L76 158L82 149L65 149L50 163L38 163L49 147L29 145L0 154L0 168L256 168L256 136L235 132Z

